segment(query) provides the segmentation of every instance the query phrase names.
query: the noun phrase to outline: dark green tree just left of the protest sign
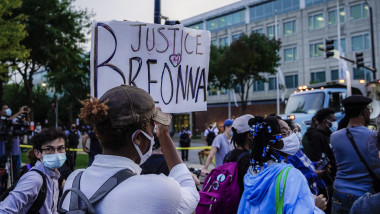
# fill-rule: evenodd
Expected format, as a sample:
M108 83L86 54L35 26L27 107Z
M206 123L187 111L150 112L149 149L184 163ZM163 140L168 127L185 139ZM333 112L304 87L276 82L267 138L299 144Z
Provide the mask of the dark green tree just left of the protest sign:
M86 10L75 10L73 0L24 1L18 14L28 16L29 34L22 44L31 50L25 62L16 57L13 65L21 74L30 107L34 106L33 74L40 69L47 72L65 72L77 63L83 53L80 43L86 41L90 15ZM33 115L32 115L33 117Z

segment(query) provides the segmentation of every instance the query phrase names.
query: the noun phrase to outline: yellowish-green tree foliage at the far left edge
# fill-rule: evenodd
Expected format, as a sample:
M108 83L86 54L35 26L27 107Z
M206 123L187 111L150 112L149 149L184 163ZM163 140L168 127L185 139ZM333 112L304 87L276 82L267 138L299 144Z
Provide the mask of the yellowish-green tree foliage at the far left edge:
M8 60L18 58L25 61L29 51L20 41L27 36L25 24L26 16L13 15L13 11L21 6L21 0L0 2L0 103L3 98L3 83L8 81L9 72L12 71Z

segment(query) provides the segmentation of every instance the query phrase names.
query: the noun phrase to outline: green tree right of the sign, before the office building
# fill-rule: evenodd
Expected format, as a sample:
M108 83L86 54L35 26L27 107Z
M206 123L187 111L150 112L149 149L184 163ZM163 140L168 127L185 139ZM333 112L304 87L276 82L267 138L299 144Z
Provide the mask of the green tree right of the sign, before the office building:
M255 80L266 81L262 73L275 74L279 65L281 42L263 34L243 35L229 47L211 48L210 85L217 88L241 86L242 112L247 109L250 89Z

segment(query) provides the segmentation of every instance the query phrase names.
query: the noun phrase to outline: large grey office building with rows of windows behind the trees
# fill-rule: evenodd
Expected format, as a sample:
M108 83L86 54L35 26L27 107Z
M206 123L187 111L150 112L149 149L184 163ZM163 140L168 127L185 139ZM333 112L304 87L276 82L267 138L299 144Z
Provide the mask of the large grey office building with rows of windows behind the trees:
M372 25L370 7L374 11ZM339 60L326 59L319 49L324 47L326 39L334 40L338 49L339 31L345 57L355 59L355 53L362 52L366 66L380 68L380 59L376 58L380 51L380 13L376 11L380 11L380 1L377 0L242 0L181 23L210 31L211 43L218 47L230 45L241 35L252 32L263 33L269 38L277 36L282 42L280 69L285 78L286 97L289 97L300 85L339 79ZM374 45L371 44L371 28ZM354 81L373 80L372 72L367 69L356 69L348 63L348 70ZM267 82L255 81L250 89L247 113L266 115L276 112L276 76L264 77ZM236 86L235 92L238 90L239 86ZM228 90L210 89L208 111L193 114L194 131L203 131L211 121L220 123L226 119L228 103L234 96L239 103L238 94L229 98ZM237 117L240 114L240 106L232 104L232 115Z

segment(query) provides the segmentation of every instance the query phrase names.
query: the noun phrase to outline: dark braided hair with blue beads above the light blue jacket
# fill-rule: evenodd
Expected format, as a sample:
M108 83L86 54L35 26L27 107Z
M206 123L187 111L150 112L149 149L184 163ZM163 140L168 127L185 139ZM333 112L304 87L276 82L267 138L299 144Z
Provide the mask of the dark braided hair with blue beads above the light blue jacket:
M281 155L274 148L282 148L283 142L276 140L276 136L281 134L278 123L279 117L268 116L258 124L260 128L255 133L251 145L251 157L256 165L262 166L268 160L280 160ZM269 149L266 149L266 148ZM265 154L264 151L266 150Z

